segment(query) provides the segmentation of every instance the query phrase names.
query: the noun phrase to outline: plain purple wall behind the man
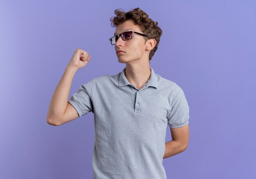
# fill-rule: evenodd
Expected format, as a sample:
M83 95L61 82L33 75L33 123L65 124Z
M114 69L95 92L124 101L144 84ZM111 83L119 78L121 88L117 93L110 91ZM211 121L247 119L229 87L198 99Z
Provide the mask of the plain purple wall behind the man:
M70 96L121 72L109 19L136 7L163 31L151 67L182 87L190 107L189 147L164 159L167 178L256 178L254 0L1 1L0 178L92 178L93 114L55 127L49 103L76 48L91 60Z

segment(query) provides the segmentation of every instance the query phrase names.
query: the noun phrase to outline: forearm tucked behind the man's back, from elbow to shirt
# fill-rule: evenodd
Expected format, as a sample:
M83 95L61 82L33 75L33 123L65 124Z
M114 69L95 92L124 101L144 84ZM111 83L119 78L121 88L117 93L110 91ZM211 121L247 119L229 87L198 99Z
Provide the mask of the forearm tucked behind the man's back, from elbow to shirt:
M186 148L175 140L165 142L164 159L185 151Z

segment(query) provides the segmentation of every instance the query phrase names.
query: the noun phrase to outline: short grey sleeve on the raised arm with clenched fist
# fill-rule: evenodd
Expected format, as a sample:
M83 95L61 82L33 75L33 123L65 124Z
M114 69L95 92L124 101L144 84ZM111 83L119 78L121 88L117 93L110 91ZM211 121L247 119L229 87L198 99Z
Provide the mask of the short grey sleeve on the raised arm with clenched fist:
M79 87L78 91L70 97L68 101L77 111L79 117L89 112L93 112L93 104L91 99L94 79Z

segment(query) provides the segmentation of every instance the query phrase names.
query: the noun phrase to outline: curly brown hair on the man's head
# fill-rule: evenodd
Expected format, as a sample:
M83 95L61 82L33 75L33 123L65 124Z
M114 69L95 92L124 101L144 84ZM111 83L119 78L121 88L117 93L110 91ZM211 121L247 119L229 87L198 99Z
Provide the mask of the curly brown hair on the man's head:
M111 26L116 27L119 24L124 23L126 20L133 20L136 25L138 25L141 31L148 35L150 39L155 39L157 44L149 53L149 60L152 59L155 51L157 50L157 46L160 41L160 37L162 35L162 30L157 26L157 22L154 22L152 19L148 17L148 14L142 11L139 8L135 8L129 12L124 12L123 9L116 9L115 10L116 17L111 17ZM147 41L147 37L145 38L145 43Z

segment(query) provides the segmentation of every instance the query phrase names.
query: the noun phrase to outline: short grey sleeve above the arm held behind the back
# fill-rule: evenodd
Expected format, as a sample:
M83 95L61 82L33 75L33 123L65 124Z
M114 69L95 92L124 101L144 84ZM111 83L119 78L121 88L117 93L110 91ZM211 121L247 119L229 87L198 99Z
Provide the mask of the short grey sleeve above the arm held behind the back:
M189 123L189 105L181 88L171 101L171 112L167 119L171 128L183 127Z

